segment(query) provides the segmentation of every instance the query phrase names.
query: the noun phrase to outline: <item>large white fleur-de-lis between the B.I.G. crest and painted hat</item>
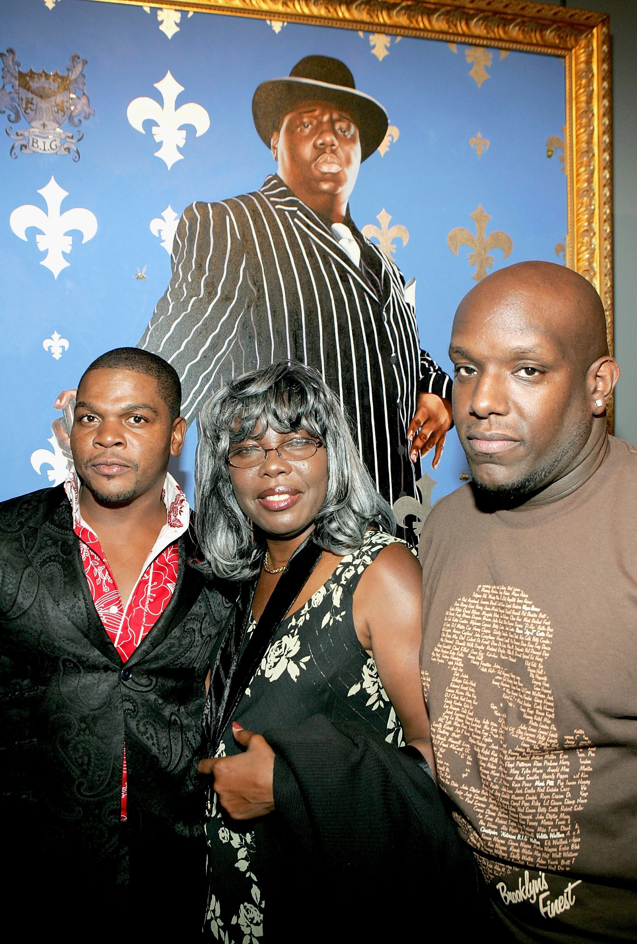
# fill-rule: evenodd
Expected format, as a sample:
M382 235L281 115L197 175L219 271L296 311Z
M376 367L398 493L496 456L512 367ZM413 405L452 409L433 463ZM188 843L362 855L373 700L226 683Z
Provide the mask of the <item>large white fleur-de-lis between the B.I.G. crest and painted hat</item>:
M196 102L188 102L175 109L176 97L184 91L184 87L179 85L170 72L167 72L160 82L155 82L155 88L161 93L163 108L154 98L134 98L126 110L126 118L142 134L145 134L144 121L151 118L157 122L157 125L153 126L153 137L162 144L159 151L155 152L155 157L161 158L170 170L177 160L183 159L183 154L177 151L177 147L186 143L186 132L180 130L181 126L193 125L195 136L199 138L210 127L210 115Z

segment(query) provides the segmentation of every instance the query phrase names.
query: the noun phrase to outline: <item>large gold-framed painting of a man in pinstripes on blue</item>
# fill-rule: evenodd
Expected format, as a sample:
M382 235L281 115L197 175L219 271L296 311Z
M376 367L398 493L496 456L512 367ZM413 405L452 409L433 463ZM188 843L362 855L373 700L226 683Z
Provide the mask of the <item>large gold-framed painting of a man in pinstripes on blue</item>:
M417 531L467 475L453 429L435 469L433 450L411 462L408 431L419 404L450 396L451 322L472 285L516 261L569 265L600 291L612 343L601 14L504 0L0 9L0 498L63 480L73 399L54 401L102 352L140 345L182 381L187 492L206 399L290 358L340 396Z

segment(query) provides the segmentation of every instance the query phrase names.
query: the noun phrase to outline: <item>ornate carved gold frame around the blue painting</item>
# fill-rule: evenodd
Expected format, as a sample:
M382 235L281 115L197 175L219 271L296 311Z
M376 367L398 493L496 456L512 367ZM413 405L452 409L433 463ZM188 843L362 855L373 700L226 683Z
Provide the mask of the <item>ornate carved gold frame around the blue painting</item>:
M142 6L143 0L105 0ZM610 18L526 0L168 0L152 6L374 30L561 56L566 67L566 264L601 295L612 351ZM612 417L609 416L610 425Z

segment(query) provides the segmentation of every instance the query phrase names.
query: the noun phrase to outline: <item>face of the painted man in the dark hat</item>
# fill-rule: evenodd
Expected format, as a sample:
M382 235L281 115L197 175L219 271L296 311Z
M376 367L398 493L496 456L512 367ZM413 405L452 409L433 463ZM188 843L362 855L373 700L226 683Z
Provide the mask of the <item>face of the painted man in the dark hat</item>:
M272 136L279 176L300 199L354 189L360 167L359 129L352 116L332 102L301 102Z

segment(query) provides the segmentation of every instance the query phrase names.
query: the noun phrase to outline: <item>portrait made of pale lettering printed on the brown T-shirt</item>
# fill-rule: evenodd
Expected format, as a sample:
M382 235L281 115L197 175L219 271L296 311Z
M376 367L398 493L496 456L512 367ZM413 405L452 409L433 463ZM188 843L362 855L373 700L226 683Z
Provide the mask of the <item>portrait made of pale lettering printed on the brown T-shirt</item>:
M562 869L578 856L595 748L583 730L556 729L545 671L552 640L549 617L517 587L478 586L457 600L431 653L452 671L432 734L442 783L474 811L479 833L461 819L468 841L513 863ZM423 681L427 697L425 669ZM477 691L490 704L484 716ZM510 871L480 865L489 878Z

